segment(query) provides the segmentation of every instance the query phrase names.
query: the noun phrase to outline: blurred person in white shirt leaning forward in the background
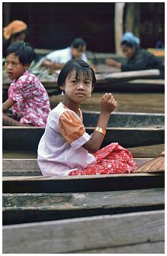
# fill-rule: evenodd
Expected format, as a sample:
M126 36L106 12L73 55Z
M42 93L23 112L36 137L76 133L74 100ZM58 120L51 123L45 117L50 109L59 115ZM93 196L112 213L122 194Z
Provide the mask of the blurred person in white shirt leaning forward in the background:
M54 50L44 57L41 66L50 70L61 70L68 60L81 59L88 62L85 54L86 43L81 37L75 38L69 47L61 50Z

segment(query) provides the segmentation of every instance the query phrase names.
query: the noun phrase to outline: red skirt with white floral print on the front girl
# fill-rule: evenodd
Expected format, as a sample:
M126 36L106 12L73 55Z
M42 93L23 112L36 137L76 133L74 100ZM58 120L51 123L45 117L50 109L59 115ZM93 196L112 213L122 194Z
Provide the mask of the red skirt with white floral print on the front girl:
M117 142L101 148L93 155L96 159L95 164L88 165L85 170L72 171L69 175L131 173L137 168L130 151L121 147Z

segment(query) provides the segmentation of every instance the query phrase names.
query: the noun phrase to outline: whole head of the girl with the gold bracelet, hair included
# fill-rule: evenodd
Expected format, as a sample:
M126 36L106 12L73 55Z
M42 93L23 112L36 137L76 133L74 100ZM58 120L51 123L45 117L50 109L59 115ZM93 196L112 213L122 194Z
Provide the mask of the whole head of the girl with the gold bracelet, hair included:
M94 70L80 59L69 60L57 80L59 88L65 91L66 97L79 103L91 95L95 83Z

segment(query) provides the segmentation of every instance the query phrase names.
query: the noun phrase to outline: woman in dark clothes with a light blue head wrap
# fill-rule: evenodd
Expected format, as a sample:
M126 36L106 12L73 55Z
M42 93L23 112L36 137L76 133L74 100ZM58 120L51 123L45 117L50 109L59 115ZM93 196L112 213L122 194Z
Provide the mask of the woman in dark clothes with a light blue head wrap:
M106 64L108 66L120 68L121 71L158 69L160 71L159 79L164 79L165 66L162 61L147 50L141 49L140 39L135 37L133 33L126 32L122 37L120 45L125 57L127 57L127 63L107 59Z

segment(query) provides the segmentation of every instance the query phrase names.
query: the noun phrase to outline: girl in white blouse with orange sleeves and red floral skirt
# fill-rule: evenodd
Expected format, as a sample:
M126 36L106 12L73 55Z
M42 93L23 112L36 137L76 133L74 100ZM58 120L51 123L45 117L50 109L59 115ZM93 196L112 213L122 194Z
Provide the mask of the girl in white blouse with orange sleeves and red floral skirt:
M136 169L132 154L118 143L98 151L117 105L111 93L105 93L101 99L101 113L93 134L85 132L79 107L91 96L95 82L94 71L83 60L69 60L59 73L57 83L65 96L50 112L38 145L43 176L130 173Z

